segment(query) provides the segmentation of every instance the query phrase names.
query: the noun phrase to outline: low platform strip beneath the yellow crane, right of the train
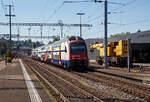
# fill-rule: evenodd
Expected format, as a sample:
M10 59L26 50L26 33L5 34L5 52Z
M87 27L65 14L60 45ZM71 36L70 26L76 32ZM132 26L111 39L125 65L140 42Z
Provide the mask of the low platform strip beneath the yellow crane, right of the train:
M94 60L90 61L90 66L94 66L96 68L95 70L100 73L118 76L150 85L150 63L149 64L139 63L138 65L142 65L143 68L142 69L140 69L139 67L130 68L130 72L128 72L127 67L120 68L109 66L109 68L106 69L103 66L98 65L96 61Z

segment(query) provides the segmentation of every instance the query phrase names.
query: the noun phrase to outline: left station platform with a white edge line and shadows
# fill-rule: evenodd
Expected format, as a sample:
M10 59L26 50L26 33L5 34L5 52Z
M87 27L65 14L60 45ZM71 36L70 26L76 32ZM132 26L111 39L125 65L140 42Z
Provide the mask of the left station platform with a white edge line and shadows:
M0 62L0 102L51 102L35 75L20 59Z

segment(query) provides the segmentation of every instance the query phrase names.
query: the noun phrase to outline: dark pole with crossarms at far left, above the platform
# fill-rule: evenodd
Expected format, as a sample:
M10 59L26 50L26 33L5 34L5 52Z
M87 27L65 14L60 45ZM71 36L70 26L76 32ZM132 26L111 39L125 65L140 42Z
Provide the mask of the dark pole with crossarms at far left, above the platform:
M9 14L6 14L5 16L9 16L9 31L10 31L10 37L9 37L9 44L10 44L10 48L12 47L12 44L11 44L11 17L14 17L15 15L12 15L11 14L11 8L13 5L6 5L9 7Z

